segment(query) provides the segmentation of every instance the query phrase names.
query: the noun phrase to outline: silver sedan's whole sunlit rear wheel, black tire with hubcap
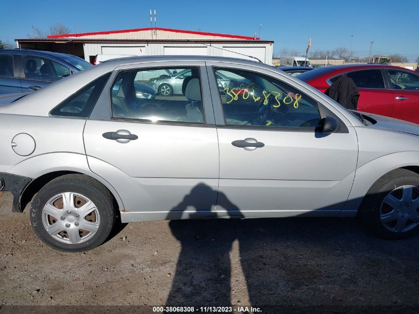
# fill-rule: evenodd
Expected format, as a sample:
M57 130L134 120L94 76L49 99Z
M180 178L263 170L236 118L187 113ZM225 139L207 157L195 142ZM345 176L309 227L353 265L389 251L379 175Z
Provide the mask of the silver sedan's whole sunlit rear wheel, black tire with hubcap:
M65 252L100 246L111 233L115 217L110 191L93 178L79 174L50 181L35 195L30 210L38 238Z

